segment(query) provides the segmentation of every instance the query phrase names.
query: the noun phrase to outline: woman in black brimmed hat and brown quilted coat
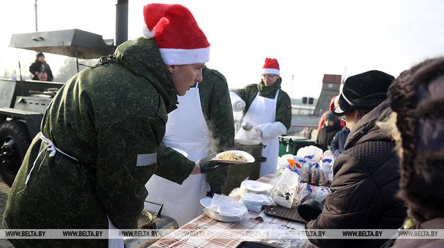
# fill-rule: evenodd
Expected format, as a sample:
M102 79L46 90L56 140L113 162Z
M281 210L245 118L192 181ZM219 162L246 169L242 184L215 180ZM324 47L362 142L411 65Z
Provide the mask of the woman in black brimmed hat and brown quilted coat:
M393 76L371 70L349 77L333 115L351 130L345 151L334 161L331 192L322 213L305 228L398 229L406 216L399 191L399 159L392 137L375 125L389 104ZM311 239L318 247L380 247L386 239Z

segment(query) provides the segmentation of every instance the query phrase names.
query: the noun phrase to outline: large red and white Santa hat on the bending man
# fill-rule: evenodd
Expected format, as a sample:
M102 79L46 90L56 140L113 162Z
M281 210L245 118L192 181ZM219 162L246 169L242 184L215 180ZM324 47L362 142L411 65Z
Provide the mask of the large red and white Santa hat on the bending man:
M143 7L143 36L154 38L167 65L210 61L210 43L191 12L179 4L147 4Z

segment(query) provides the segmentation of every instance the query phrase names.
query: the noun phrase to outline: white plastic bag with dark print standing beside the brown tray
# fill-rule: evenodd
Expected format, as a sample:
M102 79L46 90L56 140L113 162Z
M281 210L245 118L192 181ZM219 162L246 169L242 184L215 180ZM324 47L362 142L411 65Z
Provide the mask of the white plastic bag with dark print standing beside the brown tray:
M289 166L285 168L279 182L273 189L273 201L282 207L295 207L296 204L293 200L297 195L300 181L301 176L298 169L292 169Z

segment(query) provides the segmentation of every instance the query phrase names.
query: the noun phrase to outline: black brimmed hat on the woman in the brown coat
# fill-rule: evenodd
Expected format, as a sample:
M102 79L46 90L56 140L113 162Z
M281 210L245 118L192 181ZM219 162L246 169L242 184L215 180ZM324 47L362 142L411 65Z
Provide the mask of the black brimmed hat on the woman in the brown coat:
M394 77L379 70L349 77L339 96L339 107L333 115L346 115L357 109L372 110L387 98L387 89Z

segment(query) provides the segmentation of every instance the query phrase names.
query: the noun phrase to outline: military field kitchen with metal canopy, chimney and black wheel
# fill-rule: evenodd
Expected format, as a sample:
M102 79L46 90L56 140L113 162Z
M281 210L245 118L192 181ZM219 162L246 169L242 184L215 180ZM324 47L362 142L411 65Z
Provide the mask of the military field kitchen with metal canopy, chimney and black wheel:
M10 47L81 59L98 59L114 53L128 40L128 0L116 4L116 40L72 29L13 34ZM78 64L78 63L77 63ZM77 66L79 71L79 66ZM28 70L27 70L28 72ZM0 79L0 173L11 186L52 97L64 83Z

